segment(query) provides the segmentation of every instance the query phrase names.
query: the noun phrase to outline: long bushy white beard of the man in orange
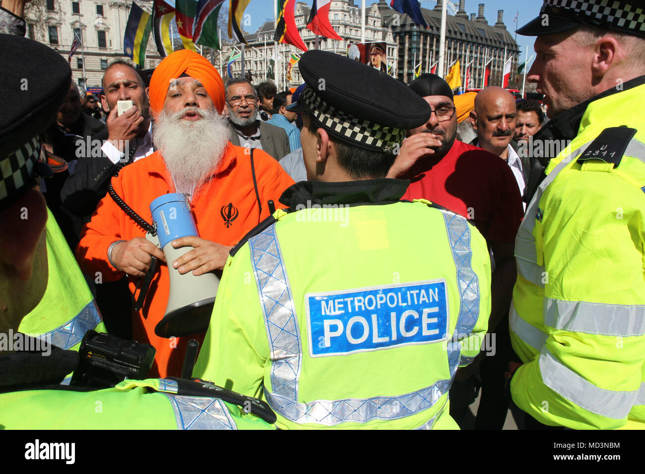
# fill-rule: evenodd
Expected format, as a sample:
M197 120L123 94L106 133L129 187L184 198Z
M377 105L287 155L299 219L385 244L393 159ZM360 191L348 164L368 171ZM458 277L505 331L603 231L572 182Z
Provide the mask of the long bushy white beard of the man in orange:
M183 120L188 110L197 121ZM175 183L175 192L193 195L210 178L228 145L228 124L216 110L188 107L166 114L162 111L152 130L152 141Z

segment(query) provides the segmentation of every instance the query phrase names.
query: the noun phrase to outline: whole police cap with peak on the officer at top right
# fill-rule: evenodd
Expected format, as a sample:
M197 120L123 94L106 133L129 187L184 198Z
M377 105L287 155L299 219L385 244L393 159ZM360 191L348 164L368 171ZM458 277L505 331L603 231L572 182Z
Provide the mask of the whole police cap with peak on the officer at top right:
M552 35L581 25L645 36L642 0L544 0L540 16L517 32L524 36Z

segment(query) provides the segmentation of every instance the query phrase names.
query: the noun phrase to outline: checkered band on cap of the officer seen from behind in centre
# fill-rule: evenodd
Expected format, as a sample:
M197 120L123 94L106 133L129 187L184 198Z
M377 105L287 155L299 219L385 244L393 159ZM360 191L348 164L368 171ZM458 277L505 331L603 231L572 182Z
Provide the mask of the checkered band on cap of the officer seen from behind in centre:
M386 127L345 114L332 104L326 103L309 86L306 86L298 97L298 102L301 101L311 111L313 119L325 130L355 146L393 153L393 150L401 146L405 137L406 131L402 128Z

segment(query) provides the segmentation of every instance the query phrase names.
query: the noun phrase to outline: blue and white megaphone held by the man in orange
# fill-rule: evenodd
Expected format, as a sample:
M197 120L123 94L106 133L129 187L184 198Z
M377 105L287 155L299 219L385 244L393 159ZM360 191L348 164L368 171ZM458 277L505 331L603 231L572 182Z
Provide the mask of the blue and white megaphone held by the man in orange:
M199 277L192 272L181 275L172 266L172 262L190 252L192 247L174 248L170 242L192 235L199 237L186 197L180 193L159 196L150 204L150 212L157 235L147 233L146 239L161 248L170 273L168 306L163 319L155 326L155 334L159 337L172 337L206 331L213 312L219 278L213 273L204 273Z

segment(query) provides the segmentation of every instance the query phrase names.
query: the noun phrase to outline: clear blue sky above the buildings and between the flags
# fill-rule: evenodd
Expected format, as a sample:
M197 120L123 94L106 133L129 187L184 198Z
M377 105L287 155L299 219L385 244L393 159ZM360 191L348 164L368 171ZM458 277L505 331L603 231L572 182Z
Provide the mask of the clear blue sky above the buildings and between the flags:
M312 0L298 0L306 1L308 5L312 5ZM386 0L390 3L390 0ZM459 6L459 0L452 0L453 3ZM361 0L355 0L357 5L361 5ZM366 5L376 3L374 0L366 0ZM518 26L526 24L529 20L537 17L542 6L542 0L466 0L466 12L477 14L478 5L484 3L484 16L488 20L489 25L494 25L497 21L497 10L504 10L504 23L510 32L515 31L515 14L519 11ZM433 8L436 1L422 1L423 8ZM251 3L246 7L244 13L250 14L251 26L244 28L247 32L255 32L266 19L273 19L273 0L251 0ZM534 38L517 35L517 44L520 46L522 54L520 61L524 60L524 52L526 46L529 46L529 57L533 54L533 41Z

